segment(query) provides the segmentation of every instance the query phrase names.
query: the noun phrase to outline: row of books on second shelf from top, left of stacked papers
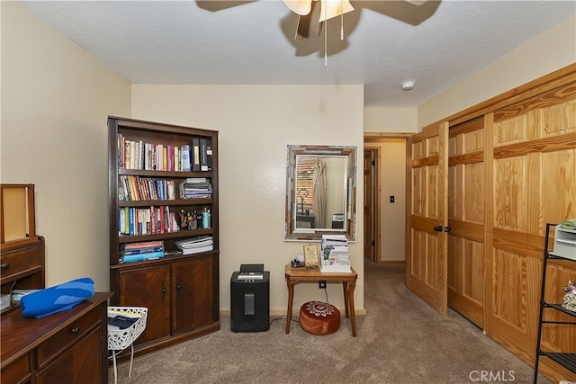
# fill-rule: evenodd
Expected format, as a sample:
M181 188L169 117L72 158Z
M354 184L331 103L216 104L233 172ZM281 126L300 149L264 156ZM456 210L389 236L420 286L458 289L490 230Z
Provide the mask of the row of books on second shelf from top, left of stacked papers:
M118 176L118 200L175 200L174 180L153 179L149 177Z

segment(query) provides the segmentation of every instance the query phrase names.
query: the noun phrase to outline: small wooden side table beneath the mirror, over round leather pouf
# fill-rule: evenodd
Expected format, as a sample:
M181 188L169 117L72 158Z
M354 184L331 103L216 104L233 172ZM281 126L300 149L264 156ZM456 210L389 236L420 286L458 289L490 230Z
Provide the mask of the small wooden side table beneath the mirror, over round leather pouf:
M352 325L352 335L356 337L356 314L354 311L354 289L358 273L353 268L350 272L320 272L318 267L313 268L291 268L286 264L285 268L286 284L288 284L288 311L286 313L286 334L290 333L290 322L292 321L292 308L294 299L294 285L299 282L311 281L342 281L344 288L344 306L346 317L350 317Z

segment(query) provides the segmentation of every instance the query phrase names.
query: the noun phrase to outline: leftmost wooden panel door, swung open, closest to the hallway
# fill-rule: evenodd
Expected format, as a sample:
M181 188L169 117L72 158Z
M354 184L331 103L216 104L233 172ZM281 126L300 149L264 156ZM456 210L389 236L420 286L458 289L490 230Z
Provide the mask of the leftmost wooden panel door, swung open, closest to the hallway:
M428 127L408 143L407 285L447 314L448 123Z

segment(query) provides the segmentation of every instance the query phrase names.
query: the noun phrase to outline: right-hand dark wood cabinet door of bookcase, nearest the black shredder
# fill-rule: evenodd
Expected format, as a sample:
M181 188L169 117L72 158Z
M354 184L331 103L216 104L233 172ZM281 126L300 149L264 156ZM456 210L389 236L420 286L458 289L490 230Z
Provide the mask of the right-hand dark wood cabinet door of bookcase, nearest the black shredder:
M184 332L214 321L214 268L210 255L173 263L172 332Z

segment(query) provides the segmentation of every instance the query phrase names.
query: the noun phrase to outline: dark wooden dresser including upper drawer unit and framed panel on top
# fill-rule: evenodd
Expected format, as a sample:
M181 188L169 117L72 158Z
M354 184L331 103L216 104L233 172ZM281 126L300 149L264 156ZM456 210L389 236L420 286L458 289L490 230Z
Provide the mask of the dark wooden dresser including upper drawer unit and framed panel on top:
M44 237L35 233L34 186L2 184L0 197L2 294L12 295L15 289L43 289ZM110 292L96 292L74 308L42 318L23 316L22 308L10 300L1 314L0 382L107 382L106 317L111 296Z

